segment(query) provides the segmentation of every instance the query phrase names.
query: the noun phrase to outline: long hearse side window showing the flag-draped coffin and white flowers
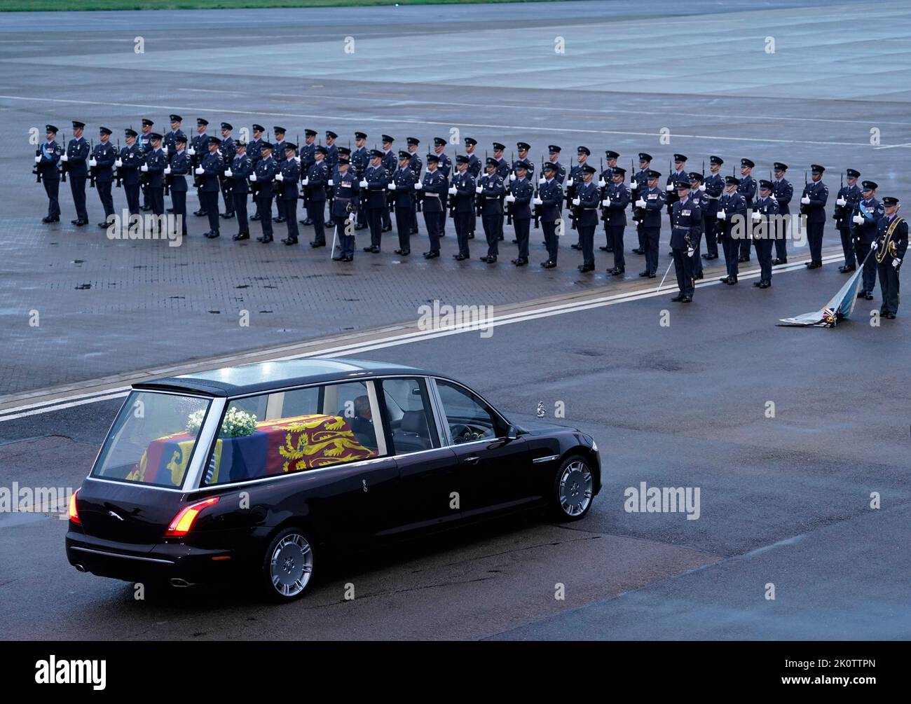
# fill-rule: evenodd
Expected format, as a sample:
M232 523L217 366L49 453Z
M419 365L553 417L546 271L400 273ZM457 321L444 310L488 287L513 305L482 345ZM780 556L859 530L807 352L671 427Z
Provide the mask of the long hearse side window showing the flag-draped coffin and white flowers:
M228 403L202 483L305 472L379 454L366 383L267 393Z

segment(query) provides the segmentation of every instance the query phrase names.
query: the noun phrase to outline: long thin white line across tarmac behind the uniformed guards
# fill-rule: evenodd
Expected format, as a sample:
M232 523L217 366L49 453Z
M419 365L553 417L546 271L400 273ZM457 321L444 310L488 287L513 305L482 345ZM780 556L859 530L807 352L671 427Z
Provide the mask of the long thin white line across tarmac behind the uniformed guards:
M226 107L199 107L186 105L149 105L146 103L115 103L105 102L102 100L76 100L65 97L24 97L0 95L0 98L6 100L23 100L36 102L67 103L68 105L97 105L103 107L133 107L145 110L181 110L189 112L208 112L208 113L227 113L230 115L251 115L258 117L301 117L303 119L317 119L323 121L343 121L363 123L383 123L390 125L432 125L435 127L459 127L459 128L488 128L488 129L508 129L521 131L523 133L531 132L537 134L541 131L540 126L527 125L496 125L485 122L457 122L455 120L414 120L414 119L394 119L390 117L364 117L348 115L326 115L325 113L293 113L293 112L263 112L262 110L235 110ZM620 129L582 129L582 128L554 128L548 127L548 132L560 132L567 134L586 134L586 135L618 135L622 137L649 137L660 138L659 132L632 132ZM865 142L825 142L813 139L773 139L758 137L721 137L718 135L688 135L679 132L672 132L670 137L675 139L711 139L714 141L729 142L761 142L763 144L812 144L823 147L869 147L869 141Z

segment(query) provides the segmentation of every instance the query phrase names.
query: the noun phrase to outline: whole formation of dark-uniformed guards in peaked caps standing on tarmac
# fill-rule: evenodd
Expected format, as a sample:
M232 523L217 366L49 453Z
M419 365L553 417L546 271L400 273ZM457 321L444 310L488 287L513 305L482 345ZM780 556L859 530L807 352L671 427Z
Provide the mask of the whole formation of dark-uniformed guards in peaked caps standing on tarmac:
M787 240L794 234L789 234L795 224L791 208L798 191L787 179L788 165L780 161L773 162L768 179L757 180L752 175L756 162L750 158L740 159L738 177L722 176L724 160L715 155L709 157L706 172L704 160L701 170L687 170L687 156L674 154L665 176L652 168L650 154L640 152L639 167L630 164L628 183L627 170L619 166L620 155L611 149L604 151L596 168L591 150L579 146L577 163L567 169L560 163L562 149L548 145L548 156L541 158L536 174L532 146L522 141L516 144L517 158L507 160L507 147L500 142L491 144L492 156L481 158L477 140L465 138L464 153L450 158L445 153L447 140L434 138L433 148L422 158L420 140L414 137L405 138L406 148L396 152L394 137L382 135L382 148L370 149L368 135L356 131L352 149L350 144L338 144L339 135L333 131L324 133L323 144L316 130L306 129L298 146L285 138L285 128L274 126L269 137L266 128L254 124L248 144L233 137L234 128L227 122L220 123L220 137L209 135L210 123L203 117L197 118L191 138L182 131L182 124L182 117L170 115L169 130L162 134L154 131L153 120L143 118L139 132L124 130L123 146L119 139L116 146L112 144L113 132L107 127L97 128L96 143L94 138L87 140L86 125L78 120L72 122L68 142L66 138L58 141L60 130L47 125L34 168L47 196L42 221L59 222L59 185L68 179L76 211L71 222L77 227L89 224L88 184L88 189L97 190L104 213L98 228L107 229L115 218L116 187L123 189L130 216L142 211L155 216L169 213L175 229L187 236L188 179L192 179L200 203L193 215L206 219L208 230L202 235L209 239L220 237L222 220L236 219L233 240L250 240L254 221L261 228L257 241L273 242L273 226L280 226L285 230L281 242L293 246L298 244L298 226L305 225L312 227L310 246L316 249L329 243L328 226L332 259L350 262L356 249L355 232L368 230L370 242L362 251L379 254L384 245L389 246L384 233L392 232L394 218L394 253L408 257L412 238L420 231L417 214L422 213L427 260L441 256L446 220L452 219L456 240L452 257L457 261L470 259L470 240L483 232L486 249L478 259L496 264L503 253L506 225L511 226L511 240L517 245L510 259L514 266L528 264L534 228L542 231L546 250L540 266L554 269L559 240L568 234L564 231L568 227L578 235L570 247L581 252L578 270L586 273L596 269L600 226L604 244L598 249L612 255L607 273L622 276L627 265L624 236L630 224L629 208L637 237L631 252L644 258L639 273L643 278L654 279L660 273L661 228L668 218L671 264L680 289L672 300L680 302L692 301L695 282L703 278L703 260L719 257L724 258L726 270L721 281L735 285L739 265L755 254L761 274L753 286L768 289L773 265L788 262ZM810 250L807 269L823 265L829 199L824 172L818 164L807 169L794 204L805 222ZM846 169L834 199L832 217L844 250L839 271L850 273L863 267L858 297L865 300L873 299L878 278L880 312L892 319L898 309L907 222L897 215L898 199L877 199L878 184L860 178L857 169ZM303 201L300 220L298 200ZM250 201L253 215L248 214Z

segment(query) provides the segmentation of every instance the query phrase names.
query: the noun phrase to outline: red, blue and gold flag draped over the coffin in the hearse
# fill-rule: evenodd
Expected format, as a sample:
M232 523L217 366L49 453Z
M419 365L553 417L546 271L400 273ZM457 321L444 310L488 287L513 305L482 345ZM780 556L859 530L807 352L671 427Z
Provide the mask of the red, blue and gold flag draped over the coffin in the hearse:
M194 439L186 433L153 440L128 479L179 486L187 470ZM358 443L340 415L300 415L261 421L244 437L222 437L215 443L207 483L237 482L327 464L367 459L376 454Z

